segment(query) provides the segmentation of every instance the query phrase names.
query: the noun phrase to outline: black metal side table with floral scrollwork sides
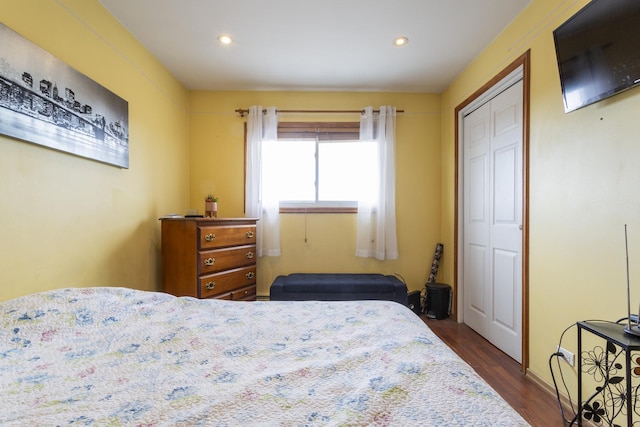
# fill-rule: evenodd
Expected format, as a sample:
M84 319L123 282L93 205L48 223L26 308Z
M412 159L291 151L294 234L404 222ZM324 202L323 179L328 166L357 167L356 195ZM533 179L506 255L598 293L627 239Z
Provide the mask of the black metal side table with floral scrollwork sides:
M640 365L632 361L632 352L640 350L640 337L626 334L625 325L613 322L578 322L578 425L582 416L596 423L616 425L614 420L625 414L627 426L633 426L634 415L640 416L640 386L633 388L632 377L640 374ZM582 350L582 331L590 332L606 342L606 347ZM584 357L586 356L586 358ZM624 359L624 360L622 360ZM636 367L632 367L632 362ZM593 377L594 393L582 399L582 375Z

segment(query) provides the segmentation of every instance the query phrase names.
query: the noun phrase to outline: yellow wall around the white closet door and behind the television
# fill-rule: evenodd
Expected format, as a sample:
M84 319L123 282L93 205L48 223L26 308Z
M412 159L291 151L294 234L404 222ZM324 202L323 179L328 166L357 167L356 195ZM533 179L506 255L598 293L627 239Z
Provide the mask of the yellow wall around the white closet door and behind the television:
M442 95L442 238L451 247L454 109L531 49L530 370L549 383L547 360L566 327L626 314L625 223L632 300L640 300L640 88L563 109L552 31L586 3L534 0ZM453 264L443 269L451 281ZM563 346L576 352L575 328ZM568 381L575 390L575 372Z

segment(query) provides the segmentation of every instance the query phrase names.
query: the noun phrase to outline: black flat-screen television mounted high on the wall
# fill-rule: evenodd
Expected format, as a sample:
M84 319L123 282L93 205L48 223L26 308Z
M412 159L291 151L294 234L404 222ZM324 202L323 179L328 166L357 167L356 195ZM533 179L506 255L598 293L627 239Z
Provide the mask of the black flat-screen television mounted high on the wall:
M592 0L553 38L565 112L640 83L640 0Z

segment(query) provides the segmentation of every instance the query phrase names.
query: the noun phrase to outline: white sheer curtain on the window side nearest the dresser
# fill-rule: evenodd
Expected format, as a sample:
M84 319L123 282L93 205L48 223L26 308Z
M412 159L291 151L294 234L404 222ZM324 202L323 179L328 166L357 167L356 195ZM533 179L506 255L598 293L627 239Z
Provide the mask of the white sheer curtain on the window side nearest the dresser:
M278 138L275 107L249 107L247 120L247 184L245 215L258 218L256 252L258 256L280 255L280 206L274 189L262 178L262 145Z

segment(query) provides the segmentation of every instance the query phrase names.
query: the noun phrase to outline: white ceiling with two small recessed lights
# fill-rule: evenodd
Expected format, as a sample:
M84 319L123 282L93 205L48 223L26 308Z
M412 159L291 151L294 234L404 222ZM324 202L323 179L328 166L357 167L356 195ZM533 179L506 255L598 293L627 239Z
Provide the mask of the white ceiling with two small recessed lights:
M440 93L530 0L100 2L187 89Z

